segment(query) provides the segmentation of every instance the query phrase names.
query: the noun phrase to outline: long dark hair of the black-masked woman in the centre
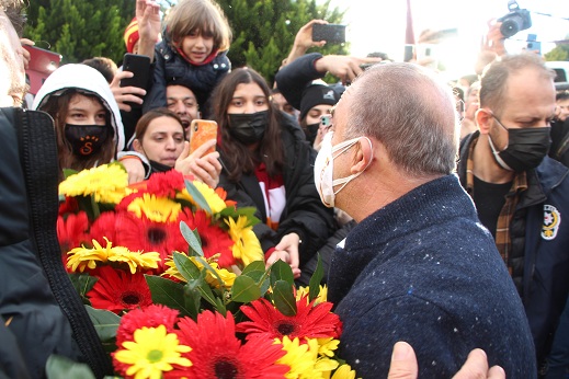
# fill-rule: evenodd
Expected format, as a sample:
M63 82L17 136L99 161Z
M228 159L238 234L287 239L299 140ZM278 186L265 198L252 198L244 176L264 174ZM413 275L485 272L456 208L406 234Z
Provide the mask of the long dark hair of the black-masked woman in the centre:
M237 141L229 135L229 116L227 108L231 104L237 85L255 83L263 91L269 104L269 125L264 131L255 151ZM275 176L282 172L284 153L281 139L281 127L278 125L278 112L269 101L271 90L266 81L257 71L248 68L238 68L227 74L216 87L212 94L213 116L219 125L221 135L220 151L224 163L229 172L229 180L238 182L243 173L254 172L258 163L266 165L269 175Z

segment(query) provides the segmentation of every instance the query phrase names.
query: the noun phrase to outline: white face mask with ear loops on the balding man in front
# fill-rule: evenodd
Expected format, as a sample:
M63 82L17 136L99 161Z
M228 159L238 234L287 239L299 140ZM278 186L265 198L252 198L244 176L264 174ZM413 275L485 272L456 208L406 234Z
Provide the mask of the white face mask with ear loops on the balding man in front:
M322 145L320 146L320 151L318 152L318 157L316 157L316 162L315 162L316 190L318 191L318 194L320 195L320 199L322 200L323 205L326 205L329 208L334 206L335 195L338 195L338 193L340 191L342 191L342 188L345 187L348 185L348 183L350 183L355 177L360 176L360 174L362 174L367 169L367 166L369 166L369 163L372 163L372 159L373 159L373 156L372 156L369 159L369 162L367 163L365 169L360 171L359 173L352 174L346 177L341 177L341 179L334 180L332 177L333 168L334 168L334 159L338 156L340 156L341 153L343 153L344 151L346 151L348 149L350 149L352 146L357 143L357 141L362 137L356 137L356 138L340 142L340 143L335 145L334 147L332 147L332 135L333 135L333 131L328 131L326 134L326 136L322 140ZM372 146L372 141L369 140L369 138L367 138L367 137L363 137L363 138L367 139L367 141L369 142L369 147L372 147L372 151L373 151L373 146ZM338 191L334 192L334 187L340 184L343 184L343 185L340 188L338 188Z

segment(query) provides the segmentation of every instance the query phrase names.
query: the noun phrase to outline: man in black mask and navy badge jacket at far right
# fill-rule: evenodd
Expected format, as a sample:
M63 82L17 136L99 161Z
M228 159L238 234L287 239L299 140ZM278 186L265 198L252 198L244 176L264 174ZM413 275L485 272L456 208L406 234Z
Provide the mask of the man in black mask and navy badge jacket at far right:
M460 142L458 175L524 302L538 367L569 292L569 170L547 157L555 73L535 54L485 71L479 131Z

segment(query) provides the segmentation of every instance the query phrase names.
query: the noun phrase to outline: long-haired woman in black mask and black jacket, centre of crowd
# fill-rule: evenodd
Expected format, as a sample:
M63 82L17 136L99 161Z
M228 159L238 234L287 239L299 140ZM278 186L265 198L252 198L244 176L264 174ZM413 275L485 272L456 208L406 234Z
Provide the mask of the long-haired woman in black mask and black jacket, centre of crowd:
M254 70L236 69L214 91L219 125L219 186L238 207L255 207L253 230L268 264L282 259L295 276L333 230L332 210L314 185L316 152L303 130L269 101L270 89Z

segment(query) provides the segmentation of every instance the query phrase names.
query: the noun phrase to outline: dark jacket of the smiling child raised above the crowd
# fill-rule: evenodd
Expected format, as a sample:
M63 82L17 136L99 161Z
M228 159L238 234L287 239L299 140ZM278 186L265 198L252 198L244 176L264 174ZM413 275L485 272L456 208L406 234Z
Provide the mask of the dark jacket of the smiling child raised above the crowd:
M194 66L172 49L168 39L162 39L155 48L153 82L147 94L143 112L167 106L166 87L179 84L194 93L200 111L208 112L207 101L216 84L231 70L227 51L220 51L207 65Z

